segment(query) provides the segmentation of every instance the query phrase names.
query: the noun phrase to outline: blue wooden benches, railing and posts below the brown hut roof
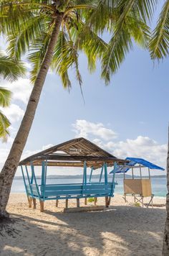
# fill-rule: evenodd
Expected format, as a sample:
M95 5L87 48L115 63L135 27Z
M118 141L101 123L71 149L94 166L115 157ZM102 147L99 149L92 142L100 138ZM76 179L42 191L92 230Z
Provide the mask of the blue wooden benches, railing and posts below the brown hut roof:
M115 169L115 168L114 168ZM47 162L42 163L42 179L41 185L37 184L37 178L34 173L34 165L31 164L31 177L29 171L25 165L26 178L24 167L21 166L22 175L24 178L24 186L26 194L29 199L29 207L34 203L36 208L36 199L40 201L40 209L44 211L44 201L66 199L66 207L68 199L76 198L77 206L79 206L79 198L85 198L85 204L87 204L87 198L95 198L95 202L99 197L105 197L105 205L108 207L110 199L114 196L115 191L115 171L112 175L112 181L107 180L107 164L104 163L100 172L100 179L98 182L92 182L92 172L90 173L90 180L87 182L87 165L84 162L84 173L82 183L69 183L69 184L47 184ZM104 175L104 177L102 177ZM104 182L102 179L104 178Z

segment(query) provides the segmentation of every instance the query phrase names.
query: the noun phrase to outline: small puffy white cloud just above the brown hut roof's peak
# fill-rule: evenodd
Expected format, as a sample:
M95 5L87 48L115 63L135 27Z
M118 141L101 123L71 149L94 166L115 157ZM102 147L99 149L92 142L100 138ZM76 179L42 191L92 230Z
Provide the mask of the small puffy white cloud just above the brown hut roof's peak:
M112 129L104 127L102 123L77 120L72 126L74 127L74 132L76 132L77 137L88 138L90 135L94 135L100 137L102 140L112 140L117 137L117 134L112 131Z

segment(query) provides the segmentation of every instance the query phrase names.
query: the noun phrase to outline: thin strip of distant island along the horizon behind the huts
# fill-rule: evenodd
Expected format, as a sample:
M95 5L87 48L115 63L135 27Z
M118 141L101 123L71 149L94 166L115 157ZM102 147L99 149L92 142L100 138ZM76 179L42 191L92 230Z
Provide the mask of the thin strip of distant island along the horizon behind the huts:
M115 178L123 178L123 174L117 174ZM82 179L83 175L47 175L48 180L53 179ZM90 178L90 175L87 175L87 178ZM92 178L100 178L100 175L92 175ZM108 178L112 178L111 174L108 174ZM125 174L125 178L132 178L132 175ZM135 178L140 178L139 175L135 175ZM142 176L142 178L148 178L148 175ZM166 178L166 175L151 175L151 178ZM22 176L16 176L14 180L21 180ZM41 176L37 176L37 179L41 179Z

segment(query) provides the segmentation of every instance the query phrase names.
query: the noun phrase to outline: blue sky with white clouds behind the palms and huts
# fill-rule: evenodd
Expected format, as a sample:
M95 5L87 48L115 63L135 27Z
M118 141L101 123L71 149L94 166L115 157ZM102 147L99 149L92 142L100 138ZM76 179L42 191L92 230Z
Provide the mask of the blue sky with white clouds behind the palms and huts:
M105 36L106 37L106 36ZM107 38L105 38L106 40ZM2 46L2 40L0 45ZM26 63L28 71L29 63ZM95 73L87 70L87 60L79 55L82 90L72 70L72 89L65 90L51 71L39 101L22 159L52 145L85 137L116 157L143 157L166 166L169 116L169 59L150 60L148 51L135 47L127 54L109 86L100 78L100 63ZM29 73L29 72L28 72ZM11 121L11 137L0 142L0 168L24 115L32 85L29 74L14 83L0 81L13 92L11 106L3 109ZM77 174L77 170L49 170L49 174ZM154 170L154 174L163 174ZM17 170L16 175L21 175Z

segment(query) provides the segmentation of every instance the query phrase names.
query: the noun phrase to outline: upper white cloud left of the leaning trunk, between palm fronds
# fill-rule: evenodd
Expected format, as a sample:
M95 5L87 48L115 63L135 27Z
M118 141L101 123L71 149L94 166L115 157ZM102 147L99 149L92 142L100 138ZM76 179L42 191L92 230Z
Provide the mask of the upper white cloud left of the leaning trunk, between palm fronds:
M17 81L14 81L13 83L4 81L0 84L0 86L8 88L10 91L12 91L13 100L22 101L24 104L27 104L27 101L33 88L28 78L19 78Z

